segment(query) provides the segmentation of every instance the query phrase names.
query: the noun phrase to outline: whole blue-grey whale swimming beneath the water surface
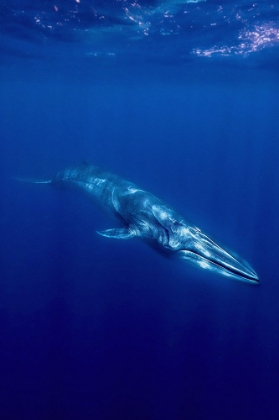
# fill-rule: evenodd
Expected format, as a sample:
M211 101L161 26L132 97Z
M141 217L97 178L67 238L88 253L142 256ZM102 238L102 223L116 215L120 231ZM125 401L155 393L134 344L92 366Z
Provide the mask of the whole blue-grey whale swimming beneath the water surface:
M34 181L33 181L34 182ZM118 218L123 227L98 232L107 238L139 237L168 255L176 255L211 271L259 283L255 271L235 254L221 248L200 229L155 195L125 179L87 163L37 181L85 191Z

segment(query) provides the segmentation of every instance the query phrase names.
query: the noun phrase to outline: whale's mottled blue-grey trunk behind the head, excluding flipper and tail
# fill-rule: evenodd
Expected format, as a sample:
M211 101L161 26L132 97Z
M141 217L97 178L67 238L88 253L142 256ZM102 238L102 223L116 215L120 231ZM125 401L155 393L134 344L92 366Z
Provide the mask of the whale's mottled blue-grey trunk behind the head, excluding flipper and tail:
M186 221L155 195L135 184L86 164L59 172L53 184L78 188L95 197L133 235L154 240L173 251L182 249L181 243L174 240L174 234L187 225Z

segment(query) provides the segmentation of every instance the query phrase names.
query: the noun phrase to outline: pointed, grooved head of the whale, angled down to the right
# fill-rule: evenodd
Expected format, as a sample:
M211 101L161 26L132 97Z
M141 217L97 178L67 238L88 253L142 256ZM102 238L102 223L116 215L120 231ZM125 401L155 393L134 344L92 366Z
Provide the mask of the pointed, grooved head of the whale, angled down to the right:
M201 268L215 271L250 284L259 284L259 278L250 265L221 248L200 229L181 226L177 231L176 247L180 258L188 260Z

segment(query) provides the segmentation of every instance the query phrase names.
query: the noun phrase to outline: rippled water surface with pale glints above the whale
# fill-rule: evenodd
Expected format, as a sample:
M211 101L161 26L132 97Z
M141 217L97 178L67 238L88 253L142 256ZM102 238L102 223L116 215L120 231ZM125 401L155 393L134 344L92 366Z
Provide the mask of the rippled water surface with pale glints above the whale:
M277 67L279 5L261 1L56 0L2 2L2 58L205 58ZM63 48L61 48L63 46ZM245 61L246 60L246 61ZM251 63L250 63L251 65Z

